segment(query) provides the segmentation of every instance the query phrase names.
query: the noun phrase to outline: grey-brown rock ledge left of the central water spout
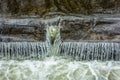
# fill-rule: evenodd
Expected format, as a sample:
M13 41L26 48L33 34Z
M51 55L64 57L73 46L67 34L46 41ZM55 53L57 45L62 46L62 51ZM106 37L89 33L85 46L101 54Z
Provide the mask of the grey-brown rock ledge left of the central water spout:
M34 24L30 19L1 19L0 41L44 41L44 25Z

